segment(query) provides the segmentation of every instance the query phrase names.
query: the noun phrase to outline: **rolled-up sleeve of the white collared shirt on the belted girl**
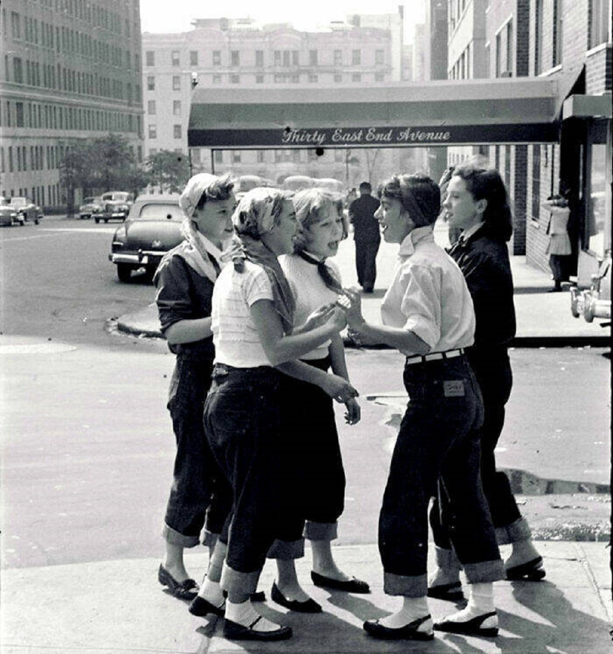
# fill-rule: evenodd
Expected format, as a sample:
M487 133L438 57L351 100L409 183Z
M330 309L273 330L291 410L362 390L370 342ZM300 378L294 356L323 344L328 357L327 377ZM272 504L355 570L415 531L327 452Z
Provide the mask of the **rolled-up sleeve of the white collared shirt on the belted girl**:
M433 348L440 340L440 271L412 266L405 283L401 305L405 328Z

